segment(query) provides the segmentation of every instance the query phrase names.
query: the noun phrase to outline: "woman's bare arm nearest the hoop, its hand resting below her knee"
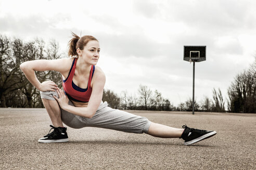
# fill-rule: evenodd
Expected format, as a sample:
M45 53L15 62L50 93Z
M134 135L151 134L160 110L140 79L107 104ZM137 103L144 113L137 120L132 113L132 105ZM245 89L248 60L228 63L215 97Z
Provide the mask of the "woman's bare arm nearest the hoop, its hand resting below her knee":
M92 118L95 115L95 112L97 111L102 100L105 82L106 77L102 71L97 76L95 75L93 91L87 107L75 107L68 105L68 97L61 89L57 90L59 98L56 96L54 96L54 98L58 101L62 109L69 111L74 115L82 116L85 118Z

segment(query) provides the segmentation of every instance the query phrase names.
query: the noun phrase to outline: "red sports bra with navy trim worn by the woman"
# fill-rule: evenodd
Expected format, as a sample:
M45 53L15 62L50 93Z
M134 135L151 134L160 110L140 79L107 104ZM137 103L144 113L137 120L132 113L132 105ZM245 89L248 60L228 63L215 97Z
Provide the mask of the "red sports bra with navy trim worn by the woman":
M91 87L91 82L95 70L95 66L92 65L90 74L89 74L89 80L88 85L86 89L82 89L75 85L73 82L73 76L75 72L75 65L78 58L74 58L72 66L69 70L69 75L66 80L62 79L62 86L65 91L65 94L68 96L70 100L76 101L76 102L89 102L89 99L92 94L93 88Z

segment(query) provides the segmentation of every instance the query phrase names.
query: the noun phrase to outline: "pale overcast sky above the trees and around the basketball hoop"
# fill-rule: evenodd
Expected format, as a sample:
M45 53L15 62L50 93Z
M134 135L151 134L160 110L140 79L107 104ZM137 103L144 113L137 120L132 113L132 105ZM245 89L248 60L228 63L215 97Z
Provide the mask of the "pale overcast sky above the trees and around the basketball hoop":
M93 35L105 88L135 94L143 84L177 105L192 97L185 45L207 46L206 61L196 63L197 101L212 97L213 88L227 97L234 77L254 61L255 7L253 0L0 0L0 34L55 39L65 53L71 31Z

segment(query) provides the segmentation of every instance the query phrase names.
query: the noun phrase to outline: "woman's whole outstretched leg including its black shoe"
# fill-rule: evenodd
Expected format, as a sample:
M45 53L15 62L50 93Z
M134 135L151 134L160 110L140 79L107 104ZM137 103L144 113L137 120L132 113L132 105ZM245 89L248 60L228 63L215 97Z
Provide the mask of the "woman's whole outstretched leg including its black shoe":
M125 111L107 107L101 104L93 118L83 118L85 126L102 127L130 133L146 133L162 138L182 138L184 145L191 145L216 134L215 131L199 130L183 125L176 129L158 123L150 122L145 117L136 116Z

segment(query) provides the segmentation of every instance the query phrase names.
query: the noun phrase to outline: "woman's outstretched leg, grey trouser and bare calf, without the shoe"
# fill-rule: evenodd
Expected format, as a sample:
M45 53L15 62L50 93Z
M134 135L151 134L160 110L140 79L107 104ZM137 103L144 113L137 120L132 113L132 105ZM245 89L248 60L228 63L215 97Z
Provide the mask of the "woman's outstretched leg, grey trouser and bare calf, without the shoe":
M102 127L129 133L147 133L156 137L181 137L184 129L176 129L158 123L153 123L145 117L130 114L118 109L100 105L91 119L84 118L86 126Z

